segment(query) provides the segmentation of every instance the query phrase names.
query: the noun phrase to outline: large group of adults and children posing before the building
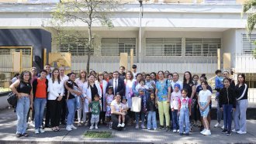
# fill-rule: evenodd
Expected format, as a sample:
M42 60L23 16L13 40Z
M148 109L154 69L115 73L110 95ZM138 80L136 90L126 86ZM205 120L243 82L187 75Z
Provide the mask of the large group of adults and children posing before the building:
M35 125L35 133L43 133L43 128L59 132L60 124L66 130L77 129L74 118L77 114L78 126L88 125L98 129L98 125L122 130L126 125L135 129L158 129L189 135L193 125L202 125L202 135L211 135L210 109L212 87L207 83L206 74L193 75L186 71L183 81L179 74L158 71L157 74L139 73L137 66L125 72L119 71L87 74L80 70L64 74L64 67L51 69L47 64L40 74L36 67L22 71L19 79L10 88L17 95L16 114L18 124L16 137L28 136L26 132L29 115ZM246 133L247 91L244 74L238 74L237 85L230 79L229 72L216 70L216 101L218 102L218 123L223 113L222 133ZM44 110L45 121L43 124ZM233 115L234 112L234 115ZM165 122L164 122L165 118ZM231 131L234 118L235 129ZM141 122L141 123L140 123ZM165 125L164 125L165 123Z

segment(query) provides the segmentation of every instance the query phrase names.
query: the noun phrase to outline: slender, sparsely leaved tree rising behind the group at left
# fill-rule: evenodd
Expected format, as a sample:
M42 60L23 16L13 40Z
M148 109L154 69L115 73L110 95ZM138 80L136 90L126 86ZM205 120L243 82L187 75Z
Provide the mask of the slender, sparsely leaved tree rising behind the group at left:
M114 0L66 0L57 4L56 9L52 14L52 23L57 27L64 26L74 22L82 22L88 26L88 40L86 42L79 42L88 50L88 60L86 71L90 70L90 58L93 48L92 43L92 25L101 23L102 26L112 27L112 21L109 15L112 14L113 9L116 9L118 2ZM82 29L82 28L81 28ZM67 38L73 37L68 33L58 33L58 38L61 43L64 43ZM75 39L78 39L74 36Z

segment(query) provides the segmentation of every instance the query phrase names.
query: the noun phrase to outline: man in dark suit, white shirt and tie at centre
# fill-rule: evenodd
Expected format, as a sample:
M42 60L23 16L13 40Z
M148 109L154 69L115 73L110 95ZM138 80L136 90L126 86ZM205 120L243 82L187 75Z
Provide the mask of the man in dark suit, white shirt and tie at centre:
M114 95L116 95L117 92L119 92L121 96L125 94L126 87L124 85L124 81L119 78L118 71L113 72L113 78L109 80L106 90L108 90L109 87L113 87Z

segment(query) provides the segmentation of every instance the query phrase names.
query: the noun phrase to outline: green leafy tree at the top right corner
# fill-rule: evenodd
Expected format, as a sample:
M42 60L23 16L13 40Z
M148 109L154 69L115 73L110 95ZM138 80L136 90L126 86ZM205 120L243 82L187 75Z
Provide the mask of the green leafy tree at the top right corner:
M247 14L247 32L250 36L251 32L254 30L254 26L256 24L256 0L250 0L248 2L244 2L242 16ZM256 41L254 41L256 44ZM256 59L256 48L252 51L254 58Z

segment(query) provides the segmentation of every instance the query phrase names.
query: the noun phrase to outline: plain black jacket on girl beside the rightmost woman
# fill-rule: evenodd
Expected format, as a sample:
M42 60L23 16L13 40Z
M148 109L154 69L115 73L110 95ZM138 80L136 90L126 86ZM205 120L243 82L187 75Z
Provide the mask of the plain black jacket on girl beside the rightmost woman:
M220 108L223 107L223 105L233 105L233 108L236 108L236 94L234 92L234 89L233 88L226 88L226 87L223 87L221 90L220 90L220 99L219 99L219 102L220 102Z

